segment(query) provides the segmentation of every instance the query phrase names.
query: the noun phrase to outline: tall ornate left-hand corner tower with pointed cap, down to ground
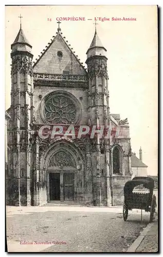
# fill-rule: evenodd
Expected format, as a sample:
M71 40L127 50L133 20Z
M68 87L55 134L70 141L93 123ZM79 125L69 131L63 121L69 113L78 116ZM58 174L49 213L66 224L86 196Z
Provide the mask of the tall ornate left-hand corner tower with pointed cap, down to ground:
M11 45L11 144L8 191L11 205L31 205L30 126L33 121L32 46L22 26ZM12 197L11 197L12 195ZM12 200L11 200L12 199Z

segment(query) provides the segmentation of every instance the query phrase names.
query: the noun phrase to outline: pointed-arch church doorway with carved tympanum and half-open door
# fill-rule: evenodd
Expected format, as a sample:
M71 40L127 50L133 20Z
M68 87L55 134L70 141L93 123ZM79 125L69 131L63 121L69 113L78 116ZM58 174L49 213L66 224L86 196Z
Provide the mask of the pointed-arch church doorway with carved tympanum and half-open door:
M47 202L78 201L84 187L84 164L77 147L59 140L46 151L43 163Z

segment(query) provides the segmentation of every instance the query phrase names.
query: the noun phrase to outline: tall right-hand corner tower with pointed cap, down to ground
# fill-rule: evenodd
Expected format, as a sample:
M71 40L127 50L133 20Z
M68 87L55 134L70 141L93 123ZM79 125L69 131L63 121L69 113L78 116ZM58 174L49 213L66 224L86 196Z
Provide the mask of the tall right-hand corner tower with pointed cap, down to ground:
M89 79L88 89L88 123L97 128L109 125L110 108L108 92L106 49L102 45L97 31L89 49L86 52ZM95 205L110 205L109 186L109 140L93 139L95 152L92 153L93 164L93 194ZM96 161L95 161L96 160ZM107 189L107 190L106 190Z

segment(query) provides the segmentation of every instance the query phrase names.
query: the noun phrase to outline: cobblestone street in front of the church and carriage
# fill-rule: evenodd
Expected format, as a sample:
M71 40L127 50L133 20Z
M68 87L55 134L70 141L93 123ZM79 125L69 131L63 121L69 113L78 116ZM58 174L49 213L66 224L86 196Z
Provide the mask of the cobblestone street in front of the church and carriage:
M43 208L40 212L37 212L39 208L31 213L30 209L28 213L21 214L15 212L9 215L8 212L7 240L19 245L19 249L14 251L21 251L21 247L23 249L20 244L22 241L63 241L66 244L44 245L39 246L40 248L36 245L37 248L33 251L124 252L149 223L147 213L143 213L140 223L140 213L137 212L130 212L128 221L124 222L120 208L71 207L71 211L66 211L66 208L61 211L58 207L44 211ZM27 247L31 248L30 245Z

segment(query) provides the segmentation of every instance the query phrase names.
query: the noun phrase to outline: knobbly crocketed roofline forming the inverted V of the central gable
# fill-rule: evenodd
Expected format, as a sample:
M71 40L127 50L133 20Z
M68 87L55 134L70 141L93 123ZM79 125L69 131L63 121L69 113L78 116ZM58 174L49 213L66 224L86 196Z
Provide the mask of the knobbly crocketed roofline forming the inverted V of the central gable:
M70 44L68 45L68 41L65 41L66 37L62 36L62 32L56 32L56 36L52 36L53 39L51 39L51 42L48 43L48 46L45 46L46 49L43 49L43 51L41 52L41 56L39 56L39 59L35 59L36 61L33 62L33 68L34 66L40 61L40 59L44 56L45 52L50 48L50 46L52 45L52 43L55 41L55 39L57 38L58 35L61 35L61 38L63 39L63 41L65 42L65 44L67 45L67 47L69 48L69 50L73 53L74 57L76 58L76 60L79 62L79 64L84 68L84 70L87 72L87 69L85 68L85 66L83 66L83 63L80 62L80 59L78 59L78 55L75 54L75 51L73 51L73 48L70 48Z

